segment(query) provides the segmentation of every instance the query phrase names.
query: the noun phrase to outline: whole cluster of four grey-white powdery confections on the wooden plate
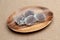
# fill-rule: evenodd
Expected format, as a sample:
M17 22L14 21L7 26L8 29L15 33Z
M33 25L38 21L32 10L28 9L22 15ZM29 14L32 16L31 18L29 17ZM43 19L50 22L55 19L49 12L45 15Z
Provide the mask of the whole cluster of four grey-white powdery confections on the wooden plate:
M45 21L46 15L44 13L34 13L31 10L26 11L22 15L18 15L14 18L14 21L18 25L33 25L35 22Z

